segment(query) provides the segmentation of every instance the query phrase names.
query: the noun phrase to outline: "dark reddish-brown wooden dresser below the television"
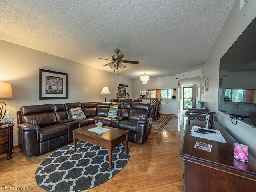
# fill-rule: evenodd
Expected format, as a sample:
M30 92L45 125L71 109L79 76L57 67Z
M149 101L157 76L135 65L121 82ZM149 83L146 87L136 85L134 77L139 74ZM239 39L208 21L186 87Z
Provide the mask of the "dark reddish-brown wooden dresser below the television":
M227 143L220 143L191 136L191 127L205 127L205 122L187 120L181 148L184 160L184 192L252 192L256 191L256 159L250 154L248 163L233 156L234 138L218 123ZM194 148L196 142L212 145L211 152ZM250 152L250 148L249 148Z

